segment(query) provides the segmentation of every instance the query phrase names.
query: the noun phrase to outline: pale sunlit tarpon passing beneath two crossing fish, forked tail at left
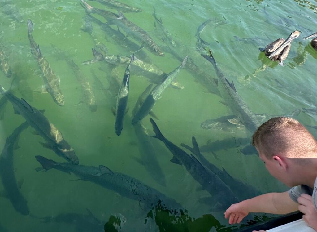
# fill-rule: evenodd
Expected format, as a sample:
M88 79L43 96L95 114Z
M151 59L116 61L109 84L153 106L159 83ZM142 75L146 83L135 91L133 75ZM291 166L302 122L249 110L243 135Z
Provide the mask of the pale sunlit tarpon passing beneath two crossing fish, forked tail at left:
M94 59L84 61L83 64L92 64L97 61L106 61L109 64L113 65L126 65L130 62L130 57L126 56L120 56L120 55L107 55L103 56L100 52L96 51L95 49L92 49L94 54ZM134 57L134 61L131 64L133 68L133 73L136 75L142 75L146 77L150 82L153 84L161 84L165 78L166 73L163 72L161 69L159 69L156 65L152 65L150 63L144 62L142 60L139 60L138 58ZM171 87L175 89L184 89L184 86L179 84L178 82L172 81L170 84Z

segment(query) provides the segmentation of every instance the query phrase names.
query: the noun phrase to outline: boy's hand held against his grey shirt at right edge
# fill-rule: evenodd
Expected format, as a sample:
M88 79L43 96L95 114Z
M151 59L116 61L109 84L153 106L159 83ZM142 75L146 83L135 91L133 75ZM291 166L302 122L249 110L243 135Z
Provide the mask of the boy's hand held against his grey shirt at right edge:
M299 211L304 214L303 220L308 226L317 231L317 211L314 206L313 197L303 193L297 198L297 202L300 203L298 207Z

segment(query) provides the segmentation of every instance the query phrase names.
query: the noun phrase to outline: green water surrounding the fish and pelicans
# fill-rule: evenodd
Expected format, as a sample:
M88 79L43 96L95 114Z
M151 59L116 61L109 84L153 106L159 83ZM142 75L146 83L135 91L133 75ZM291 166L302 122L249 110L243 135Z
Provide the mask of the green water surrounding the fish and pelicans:
M130 6L138 7L140 13L124 13L127 19L137 24L160 46L168 41L160 40L161 31L154 27L153 6L156 13L162 16L163 24L177 42L175 51L180 57L188 55L210 77L217 78L213 67L196 50L197 27L208 18L217 18L223 24L215 27L207 24L201 37L210 44L217 63L227 78L235 83L238 94L244 99L249 108L257 114L285 115L301 107L314 108L315 62L317 52L309 45L309 41L302 40L316 31L315 16L317 13L316 1L130 1L122 0ZM12 80L12 90L17 97L23 97L31 106L38 110L45 110L44 115L62 133L64 139L74 148L80 164L87 166L105 165L113 171L132 176L145 184L159 190L166 196L175 199L185 209L191 218L201 218L203 215L215 217L216 222L228 226L223 218L223 211L210 212L211 206L200 203L202 197L209 197L205 190L198 190L199 183L177 164L170 162L171 152L164 144L151 138L156 149L157 159L165 178L166 186L154 181L146 168L133 159L140 158L139 141L131 125L132 109L139 95L149 84L143 76L133 74L131 69L129 111L124 120L124 128L118 137L114 130L114 116L109 104L110 96L100 89L92 76L94 70L101 83L108 87L106 76L110 75L98 69L106 66L105 62L82 65L83 61L93 58L91 48L94 42L88 33L79 30L84 27L85 11L78 1L59 0L29 0L29 1L0 1L14 4L24 23L18 23L9 14L1 14L0 31L1 43L8 54L13 75L6 78L0 72L1 85L8 89ZM117 12L95 1L89 4L96 8ZM5 8L1 8L5 9ZM1 11L0 9L0 11ZM102 22L102 17L93 14ZM49 61L55 74L60 77L61 92L65 97L65 106L54 103L49 94L33 92L43 85L38 66L31 54L27 20L34 24L32 33L39 44L42 54ZM98 40L107 46L109 54L132 55L132 51L122 48L115 40L97 24L92 23ZM117 30L115 25L111 27ZM301 31L299 38L293 41L285 66L273 65L258 48L265 47L277 38L287 38L294 31ZM121 31L125 33L122 29ZM126 34L126 33L125 33ZM236 41L239 38L258 38L254 40ZM132 41L133 38L128 37ZM140 43L134 41L136 44ZM78 104L82 98L81 86L66 61L59 57L51 47L57 46L66 51L87 76L96 96L97 111L91 112L85 104ZM170 44L168 44L170 45ZM180 65L180 61L168 52L164 57L155 56L145 48L142 49L151 58L152 62L161 70L168 73ZM136 52L136 57L138 53ZM126 65L117 68L120 78L124 75ZM262 69L261 72L256 70ZM225 131L204 130L200 124L206 119L216 119L230 115L230 109L219 103L218 95L208 93L207 88L199 82L199 75L195 77L183 69L176 80L184 85L184 89L165 89L153 110L158 116L156 120L164 136L179 146L181 143L191 145L191 136L195 136L200 146L208 141L214 142L223 139L245 138L245 130L235 130L234 133ZM195 80L196 79L196 80ZM275 79L282 86L277 85ZM19 84L20 83L20 84ZM305 125L315 125L316 118L300 113L297 117ZM5 139L12 131L25 120L14 114L10 103L6 105L4 119L0 121L0 147L4 146ZM152 133L149 117L143 123ZM21 148L14 151L14 169L17 180L23 179L20 189L28 202L30 215L23 216L15 211L11 202L0 198L0 225L8 231L76 231L75 225L49 222L43 223L41 217L56 217L61 214L87 215L89 209L103 225L111 215L123 215L126 223L122 231L159 231L153 220L145 222L148 211L143 209L139 202L121 196L106 188L89 181L71 181L78 179L75 175L68 175L52 169L48 172L36 172L40 164L34 158L42 155L48 159L64 162L52 150L41 146L44 141L40 136L32 134L33 129L28 128L21 136ZM311 129L316 134L314 129ZM218 159L211 152L203 153L205 157L218 168L224 168L230 175L243 183L249 184L262 193L271 191L285 191L287 187L271 177L259 158L241 153L243 146L239 143L234 147L223 147L216 151ZM187 150L186 150L187 151ZM0 192L4 190L0 184ZM233 189L234 191L234 189ZM233 202L232 202L233 203ZM211 216L212 215L212 216ZM212 220L207 220L213 223ZM195 221L195 227L208 227L205 221ZM201 224L199 224L201 223ZM184 225L187 225L186 223ZM188 224L189 225L189 224ZM189 231L195 231L193 225ZM179 227L179 231L186 231ZM1 230L1 227L0 227ZM77 230L78 231L78 230ZM197 230L198 231L198 230ZM203 230L200 230L203 231ZM207 230L208 231L208 230Z

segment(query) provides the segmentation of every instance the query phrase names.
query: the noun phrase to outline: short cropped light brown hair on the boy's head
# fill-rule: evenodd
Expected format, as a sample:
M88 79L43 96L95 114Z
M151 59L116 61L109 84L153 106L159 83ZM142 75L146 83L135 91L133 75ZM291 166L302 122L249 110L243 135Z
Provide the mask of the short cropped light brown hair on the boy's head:
M317 157L317 142L314 136L299 121L277 117L263 123L252 136L253 146L272 159L274 155L288 158ZM312 158L310 156L310 158Z

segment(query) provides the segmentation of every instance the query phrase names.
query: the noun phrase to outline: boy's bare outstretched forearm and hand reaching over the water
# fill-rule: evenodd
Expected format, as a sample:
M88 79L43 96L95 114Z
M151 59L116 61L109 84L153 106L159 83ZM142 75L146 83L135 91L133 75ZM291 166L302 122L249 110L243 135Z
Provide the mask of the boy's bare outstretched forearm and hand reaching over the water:
M298 210L298 203L294 202L287 192L267 193L254 198L232 204L224 213L229 217L229 223L240 223L249 212L270 214L287 214Z

